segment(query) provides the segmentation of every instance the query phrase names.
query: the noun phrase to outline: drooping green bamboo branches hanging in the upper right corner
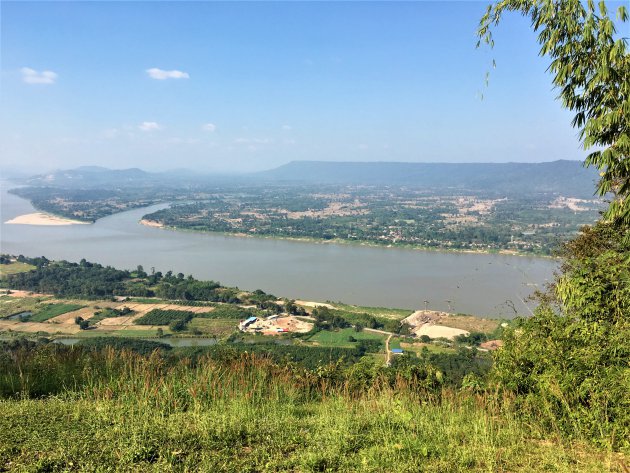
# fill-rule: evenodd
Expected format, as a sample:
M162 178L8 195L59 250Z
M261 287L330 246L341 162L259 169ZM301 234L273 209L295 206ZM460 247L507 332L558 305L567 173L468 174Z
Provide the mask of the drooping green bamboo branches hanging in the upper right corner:
M584 149L596 148L586 165L600 170L597 191L613 194L605 218L630 226L630 58L626 38L616 29L604 1L501 0L491 4L481 19L478 35L494 45L492 29L505 12L531 19L538 32L540 55L551 59L549 70L564 107L575 112ZM617 18L627 22L624 6ZM628 236L630 238L630 236Z

